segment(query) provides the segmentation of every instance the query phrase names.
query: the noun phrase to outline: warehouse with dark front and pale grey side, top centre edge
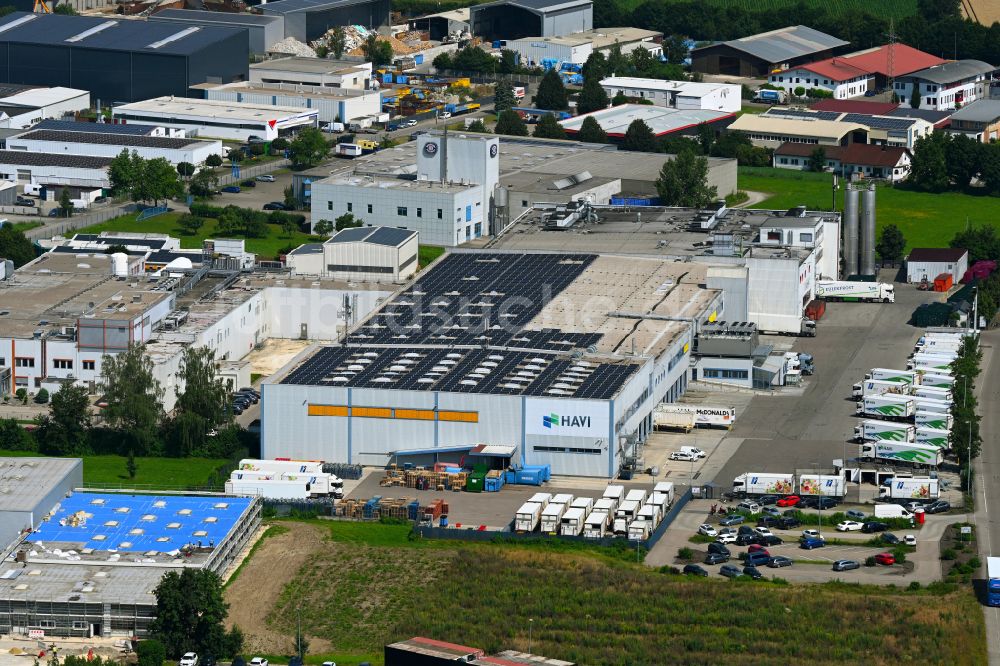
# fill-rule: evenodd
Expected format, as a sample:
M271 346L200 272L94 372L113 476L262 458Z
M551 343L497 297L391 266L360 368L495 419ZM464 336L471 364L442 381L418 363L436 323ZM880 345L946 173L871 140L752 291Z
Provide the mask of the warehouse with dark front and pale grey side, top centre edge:
M472 34L486 41L562 37L593 29L594 3L591 0L496 0L473 5L470 22Z

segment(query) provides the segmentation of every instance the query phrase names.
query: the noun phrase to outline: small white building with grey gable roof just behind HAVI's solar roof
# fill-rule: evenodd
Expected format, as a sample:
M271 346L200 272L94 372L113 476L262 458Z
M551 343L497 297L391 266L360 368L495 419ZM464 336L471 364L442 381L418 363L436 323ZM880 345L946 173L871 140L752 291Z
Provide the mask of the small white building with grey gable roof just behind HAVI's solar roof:
M288 253L292 275L321 275L345 282L399 282L417 272L417 232L393 227L355 227L324 243Z

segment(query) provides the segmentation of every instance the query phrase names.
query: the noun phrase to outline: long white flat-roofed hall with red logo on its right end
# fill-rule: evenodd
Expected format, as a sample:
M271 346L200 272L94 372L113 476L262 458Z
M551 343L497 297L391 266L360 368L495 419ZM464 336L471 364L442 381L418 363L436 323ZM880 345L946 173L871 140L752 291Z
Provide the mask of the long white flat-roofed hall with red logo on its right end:
M316 127L318 113L293 106L247 104L220 100L157 97L121 104L115 118L185 130L189 136L247 141L258 136L277 139L296 127Z

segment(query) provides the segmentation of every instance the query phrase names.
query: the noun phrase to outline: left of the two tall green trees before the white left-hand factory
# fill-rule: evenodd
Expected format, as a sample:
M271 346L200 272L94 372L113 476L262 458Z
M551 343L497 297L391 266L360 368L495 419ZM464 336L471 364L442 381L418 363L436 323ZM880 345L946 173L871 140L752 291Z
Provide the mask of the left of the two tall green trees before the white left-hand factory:
M107 402L104 421L119 431L122 449L139 455L153 452L163 419L163 388L153 376L153 361L142 345L133 344L104 357L101 391Z

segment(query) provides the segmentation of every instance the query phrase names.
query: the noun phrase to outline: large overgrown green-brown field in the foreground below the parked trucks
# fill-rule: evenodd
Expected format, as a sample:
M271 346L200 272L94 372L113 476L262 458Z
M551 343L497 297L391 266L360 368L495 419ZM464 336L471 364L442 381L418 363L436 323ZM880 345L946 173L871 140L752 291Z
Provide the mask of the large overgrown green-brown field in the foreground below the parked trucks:
M332 648L311 651L310 663L381 664L382 645L410 636L526 651L529 623L532 652L580 664L659 664L664 655L692 664L986 658L968 587L692 580L582 550L411 541L405 525L324 529L329 539L267 619L294 636L301 609L303 632Z

